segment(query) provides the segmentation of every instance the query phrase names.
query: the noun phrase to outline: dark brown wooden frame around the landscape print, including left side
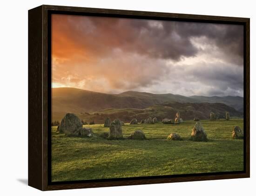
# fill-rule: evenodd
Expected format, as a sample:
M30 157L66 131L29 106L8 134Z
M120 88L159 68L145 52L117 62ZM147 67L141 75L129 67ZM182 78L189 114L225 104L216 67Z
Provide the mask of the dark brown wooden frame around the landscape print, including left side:
M134 177L108 180L52 183L51 137L51 31L52 13L111 16L135 19L194 21L244 26L244 170L170 177ZM28 11L28 185L39 190L62 190L150 183L172 183L200 180L244 178L250 175L249 157L249 19L176 13L155 13L70 6L42 5Z

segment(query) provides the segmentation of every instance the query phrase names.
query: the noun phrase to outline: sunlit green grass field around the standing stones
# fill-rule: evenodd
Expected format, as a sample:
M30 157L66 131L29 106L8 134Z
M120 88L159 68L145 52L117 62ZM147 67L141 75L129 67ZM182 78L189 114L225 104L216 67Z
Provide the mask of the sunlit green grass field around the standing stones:
M243 170L243 139L232 139L234 126L243 129L243 119L201 120L208 142L190 141L195 122L179 125L138 124L122 126L127 138L142 130L147 140L107 140L103 125L86 125L92 138L67 137L52 127L52 181L72 181L119 177L145 177ZM168 141L178 133L183 141Z

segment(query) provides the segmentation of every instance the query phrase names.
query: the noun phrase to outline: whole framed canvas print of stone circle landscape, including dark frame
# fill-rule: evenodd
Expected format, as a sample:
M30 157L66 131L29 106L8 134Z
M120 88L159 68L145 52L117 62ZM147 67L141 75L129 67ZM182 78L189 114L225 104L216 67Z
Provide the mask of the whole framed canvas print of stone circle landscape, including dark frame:
M28 184L249 177L249 19L28 11Z

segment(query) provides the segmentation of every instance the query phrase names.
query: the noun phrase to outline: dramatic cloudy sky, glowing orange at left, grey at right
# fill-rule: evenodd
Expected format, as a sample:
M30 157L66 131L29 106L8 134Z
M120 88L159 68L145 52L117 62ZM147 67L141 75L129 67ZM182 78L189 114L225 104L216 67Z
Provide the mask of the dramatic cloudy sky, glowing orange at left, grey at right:
M52 85L243 96L243 26L53 15Z

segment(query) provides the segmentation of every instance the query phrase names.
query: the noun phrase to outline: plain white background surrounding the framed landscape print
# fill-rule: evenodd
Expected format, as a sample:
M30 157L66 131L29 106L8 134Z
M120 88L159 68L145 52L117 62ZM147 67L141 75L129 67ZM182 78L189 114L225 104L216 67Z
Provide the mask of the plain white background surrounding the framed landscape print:
M250 18L251 178L42 192L27 183L27 10L42 4ZM1 1L0 195L255 195L256 12L253 0L31 0ZM254 182L253 182L254 181Z

